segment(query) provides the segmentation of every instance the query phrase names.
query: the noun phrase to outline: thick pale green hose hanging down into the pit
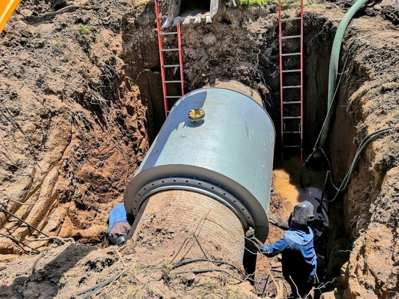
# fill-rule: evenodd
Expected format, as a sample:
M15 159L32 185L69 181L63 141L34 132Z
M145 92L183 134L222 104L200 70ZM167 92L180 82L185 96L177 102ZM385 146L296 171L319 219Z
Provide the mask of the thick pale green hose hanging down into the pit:
M359 8L364 5L367 1L369 0L357 0L355 4L349 10L347 13L344 15L343 19L341 20L337 33L335 34L334 38L334 43L333 43L333 48L331 50L331 57L330 57L330 70L328 74L328 102L327 102L327 107L328 107L328 112L326 116L326 120L324 121L323 127L320 132L320 143L319 146L315 146L315 149L317 148L323 148L326 144L326 140L328 137L328 133L330 131L330 126L331 126L331 116L333 112L333 101L334 101L334 95L335 95L335 89L336 89L336 82L337 82L337 74L338 74L338 64L339 64L339 58L340 58L340 52L341 52L341 45L342 45L342 39L344 38L345 31L351 22L353 16L355 13L359 10Z

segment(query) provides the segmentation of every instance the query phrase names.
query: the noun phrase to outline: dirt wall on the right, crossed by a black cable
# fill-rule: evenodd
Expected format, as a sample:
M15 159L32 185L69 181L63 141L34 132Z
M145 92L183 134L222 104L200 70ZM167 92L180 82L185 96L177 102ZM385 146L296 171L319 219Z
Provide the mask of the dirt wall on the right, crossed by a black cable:
M330 142L336 182L367 134L398 125L398 31L379 29L355 19L345 39ZM397 298L398 138L391 132L366 148L348 192L336 203L350 241L345 248L334 240L331 251L331 258L348 261L342 268L344 298Z

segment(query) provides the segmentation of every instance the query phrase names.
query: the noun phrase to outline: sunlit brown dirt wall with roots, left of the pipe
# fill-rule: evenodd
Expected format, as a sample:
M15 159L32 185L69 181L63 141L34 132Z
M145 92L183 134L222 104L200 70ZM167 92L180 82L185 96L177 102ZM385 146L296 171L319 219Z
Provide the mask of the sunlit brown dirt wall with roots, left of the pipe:
M39 4L22 3L1 35L0 200L48 235L99 243L148 148L147 103L120 58L133 7L110 1L40 18ZM2 233L31 234L0 219ZM0 239L0 253L24 249Z

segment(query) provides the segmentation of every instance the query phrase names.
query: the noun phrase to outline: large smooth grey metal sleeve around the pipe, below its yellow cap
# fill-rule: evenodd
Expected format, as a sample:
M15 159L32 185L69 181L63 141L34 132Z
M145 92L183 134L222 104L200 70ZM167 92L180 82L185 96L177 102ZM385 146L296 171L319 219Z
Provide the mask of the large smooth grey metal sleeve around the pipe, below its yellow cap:
M188 114L198 108L205 116L194 123ZM163 190L192 190L230 207L264 241L274 143L270 116L250 97L224 88L193 91L172 108L128 184L126 211L136 216L146 198Z

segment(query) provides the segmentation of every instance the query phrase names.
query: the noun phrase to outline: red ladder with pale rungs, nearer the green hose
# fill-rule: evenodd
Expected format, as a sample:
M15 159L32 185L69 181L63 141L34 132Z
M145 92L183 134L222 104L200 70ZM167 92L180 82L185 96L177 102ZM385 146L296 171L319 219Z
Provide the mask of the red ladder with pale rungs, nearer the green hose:
M282 18L283 5L288 3L300 2L300 16ZM289 5L289 4L288 4ZM283 36L282 24L286 22L300 21L300 33L296 35ZM280 41L280 110L281 110L281 146L282 157L286 149L300 149L301 159L303 158L303 0L279 0L278 3L278 26ZM300 52L283 53L283 40L300 38ZM299 56L299 69L283 69L284 57ZM283 85L287 75L299 74L298 83L289 83ZM292 78L290 78L292 79ZM295 100L285 101L290 98L287 93L299 90L299 94L295 96ZM291 97L292 98L292 97ZM299 107L298 107L299 106ZM291 111L286 107L293 107ZM287 115L288 113L288 115ZM298 122L299 121L299 122ZM295 136L298 134L300 139ZM289 139L289 137L291 137ZM296 138L295 138L296 137ZM291 142L287 142L291 141Z

